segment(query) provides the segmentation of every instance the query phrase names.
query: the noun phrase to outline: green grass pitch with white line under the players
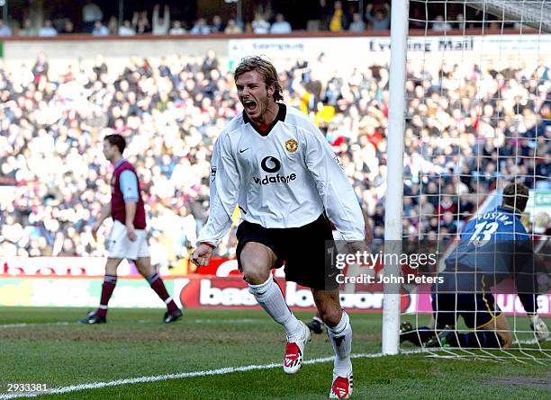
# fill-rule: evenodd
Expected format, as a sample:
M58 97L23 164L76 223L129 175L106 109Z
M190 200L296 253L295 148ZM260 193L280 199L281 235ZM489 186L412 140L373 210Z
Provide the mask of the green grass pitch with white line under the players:
M54 388L281 362L285 334L262 311L186 310L182 321L169 325L160 323L162 314L161 310L113 309L108 324L88 326L76 323L86 315L85 309L0 309L0 398L7 393L8 383ZM297 316L307 320L312 315ZM420 323L426 323L422 319ZM381 316L352 314L351 320L354 352L379 352ZM312 335L306 359L330 355L327 335ZM353 362L355 398L551 398L548 362L542 366L532 361L443 359L428 354ZM322 362L304 366L296 376L286 376L277 367L36 398L327 398L331 370L332 362Z

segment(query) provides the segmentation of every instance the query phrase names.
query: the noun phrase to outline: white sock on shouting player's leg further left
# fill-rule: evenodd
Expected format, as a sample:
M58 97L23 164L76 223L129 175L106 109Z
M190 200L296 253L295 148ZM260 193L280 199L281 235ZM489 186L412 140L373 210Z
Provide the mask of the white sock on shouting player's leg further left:
M283 293L272 275L260 285L248 285L248 291L257 299L258 304L266 310L266 313L274 318L276 323L284 325L289 342L296 342L303 336L302 324L287 307Z

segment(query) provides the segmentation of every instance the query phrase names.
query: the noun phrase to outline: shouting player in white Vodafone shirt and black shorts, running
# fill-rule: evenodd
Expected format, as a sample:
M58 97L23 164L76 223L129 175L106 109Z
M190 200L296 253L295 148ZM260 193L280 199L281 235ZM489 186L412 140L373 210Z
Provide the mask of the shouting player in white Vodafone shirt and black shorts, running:
M326 244L330 222L351 250L366 248L362 211L337 157L302 112L287 108L276 68L266 59L243 58L235 70L239 113L221 132L212 151L210 215L192 261L207 265L231 227L239 205L239 270L248 290L287 336L284 370L303 366L310 332L285 303L271 270L285 263L285 277L312 289L335 351L331 398L353 391L352 328L339 304L336 271ZM329 220L328 220L329 218Z

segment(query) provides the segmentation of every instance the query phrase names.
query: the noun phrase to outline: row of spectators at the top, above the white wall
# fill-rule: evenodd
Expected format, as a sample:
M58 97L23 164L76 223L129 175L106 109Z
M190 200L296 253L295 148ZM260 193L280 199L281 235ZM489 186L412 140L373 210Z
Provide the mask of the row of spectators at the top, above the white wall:
M315 3L315 2L314 2ZM81 21L73 21L70 17L61 18L56 15L38 21L24 17L22 21L11 20L9 23L0 19L0 37L8 36L40 36L53 37L74 33L89 33L94 36L134 36L152 35L206 35L212 33L255 33L281 34L292 31L386 31L390 29L390 3L384 1L366 2L366 9L359 10L357 2L320 0L319 4L310 7L314 9L308 21L300 26L293 26L287 21L285 13L269 6L257 7L257 13L250 20L241 21L235 15L214 14L212 16L197 15L191 21L171 17L170 7L166 4L153 5L150 9L134 9L131 18L107 15L93 1L88 1L82 8ZM128 4L134 7L132 4ZM461 8L457 8L461 10ZM173 10L174 12L174 10ZM445 21L441 10L433 11L432 6L411 4L411 28L431 29L433 31L462 30L480 26L480 13L471 12L468 21L460 11L454 13L453 21ZM61 13L62 14L62 13ZM296 16L294 15L294 18ZM493 26L492 25L495 25ZM492 21L484 22L488 28L500 29L501 24ZM512 26L506 23L506 27Z

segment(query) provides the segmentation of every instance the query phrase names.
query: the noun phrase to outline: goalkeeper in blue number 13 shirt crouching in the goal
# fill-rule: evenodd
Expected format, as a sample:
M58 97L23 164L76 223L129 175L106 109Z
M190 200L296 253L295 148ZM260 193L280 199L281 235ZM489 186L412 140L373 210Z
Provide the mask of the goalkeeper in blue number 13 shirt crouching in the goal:
M509 323L490 291L509 277L538 342L546 341L547 326L537 316L537 276L547 271L520 222L527 201L528 188L511 183L503 190L501 207L466 224L459 244L445 260L445 271L438 273L443 280L432 287L434 313L429 326L413 329L410 323L403 323L400 342L428 347L509 347ZM458 316L474 332L457 333Z

